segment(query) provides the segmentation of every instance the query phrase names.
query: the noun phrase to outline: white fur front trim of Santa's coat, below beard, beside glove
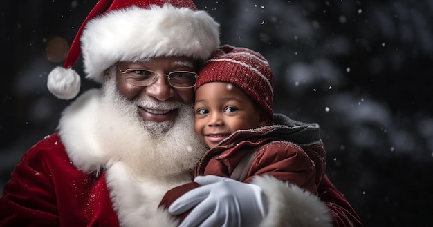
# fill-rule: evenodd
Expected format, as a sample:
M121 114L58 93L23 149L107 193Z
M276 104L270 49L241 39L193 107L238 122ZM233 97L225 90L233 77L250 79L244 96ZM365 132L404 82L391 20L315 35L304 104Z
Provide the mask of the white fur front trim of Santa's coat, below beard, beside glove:
M120 226L178 226L167 210L158 208L165 192L181 184L181 179L178 180L136 179L120 161L113 164L107 170L107 184ZM182 180L182 184L190 181L190 175Z

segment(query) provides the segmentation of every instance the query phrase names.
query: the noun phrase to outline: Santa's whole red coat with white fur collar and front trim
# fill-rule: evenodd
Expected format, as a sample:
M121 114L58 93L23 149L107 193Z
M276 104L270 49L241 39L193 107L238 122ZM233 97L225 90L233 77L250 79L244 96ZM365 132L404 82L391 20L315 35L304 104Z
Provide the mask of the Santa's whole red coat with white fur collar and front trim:
M176 181L137 181L127 166L105 157L91 136L99 103L98 90L86 92L63 112L62 136L50 135L26 152L3 189L0 226L177 226L156 207L167 190L189 182L190 174L179 175ZM256 184L272 188L273 195L287 194L280 181L262 178ZM318 192L335 226L362 226L326 176ZM302 197L297 199L302 204ZM275 212L267 219L285 217L285 202L271 206Z

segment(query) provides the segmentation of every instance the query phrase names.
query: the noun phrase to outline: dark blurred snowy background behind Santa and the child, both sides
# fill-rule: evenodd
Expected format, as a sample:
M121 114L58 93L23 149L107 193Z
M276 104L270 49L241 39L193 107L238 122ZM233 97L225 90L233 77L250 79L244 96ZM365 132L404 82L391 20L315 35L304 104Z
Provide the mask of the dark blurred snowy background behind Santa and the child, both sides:
M95 2L2 1L0 191L70 103L46 77ZM275 112L320 124L326 172L365 226L433 226L433 1L195 2L221 43L270 61Z

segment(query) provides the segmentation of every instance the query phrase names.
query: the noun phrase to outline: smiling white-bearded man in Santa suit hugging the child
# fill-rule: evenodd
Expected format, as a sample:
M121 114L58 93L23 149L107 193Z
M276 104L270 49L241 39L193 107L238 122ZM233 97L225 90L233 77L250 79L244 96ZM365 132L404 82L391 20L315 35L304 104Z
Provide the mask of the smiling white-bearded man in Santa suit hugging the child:
M102 86L73 101L57 132L23 155L0 198L0 226L178 226L158 204L167 190L192 180L206 149L194 133L192 87L201 62L218 47L219 24L190 0L99 1L64 66L50 72L48 89L61 99L77 96L80 76L71 67L80 55L86 78ZM237 191L266 213L208 204L223 212L201 219L360 225L326 176L324 201L286 182L257 182L266 199ZM233 198L245 202L234 192Z

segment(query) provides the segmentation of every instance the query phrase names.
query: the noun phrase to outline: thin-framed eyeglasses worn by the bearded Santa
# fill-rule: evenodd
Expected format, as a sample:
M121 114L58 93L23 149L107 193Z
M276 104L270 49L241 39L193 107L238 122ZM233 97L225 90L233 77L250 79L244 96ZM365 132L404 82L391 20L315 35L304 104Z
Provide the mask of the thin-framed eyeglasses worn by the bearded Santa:
M125 75L125 82L133 86L150 86L156 81L157 73L152 70L142 70L128 68L122 71L117 64L118 69ZM197 74L188 71L174 71L169 74L161 74L168 78L168 83L174 88L192 88L196 85Z

